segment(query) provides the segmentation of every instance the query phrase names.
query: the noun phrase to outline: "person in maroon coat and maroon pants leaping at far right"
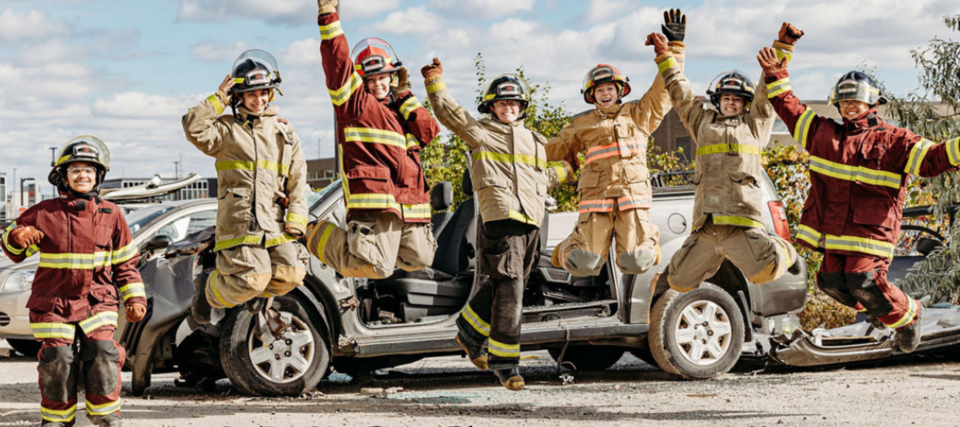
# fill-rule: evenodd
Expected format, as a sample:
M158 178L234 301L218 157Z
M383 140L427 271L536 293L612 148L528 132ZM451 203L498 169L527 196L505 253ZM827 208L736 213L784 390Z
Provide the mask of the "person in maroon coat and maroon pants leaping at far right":
M830 297L896 329L903 352L920 344L920 302L887 282L900 232L906 178L934 177L960 164L960 138L939 144L877 116L885 100L870 76L845 74L830 104L843 123L816 115L790 89L790 77L770 48L757 56L780 118L810 154L810 193L797 239L823 250L817 286Z

